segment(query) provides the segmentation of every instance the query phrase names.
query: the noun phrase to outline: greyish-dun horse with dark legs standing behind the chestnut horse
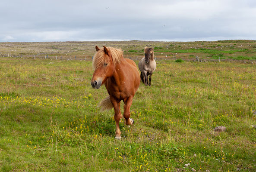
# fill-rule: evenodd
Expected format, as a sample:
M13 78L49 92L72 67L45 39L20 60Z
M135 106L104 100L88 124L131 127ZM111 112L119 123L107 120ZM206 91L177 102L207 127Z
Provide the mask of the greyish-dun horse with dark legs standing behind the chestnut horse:
M144 52L145 57L139 61L139 70L141 71L140 80L142 83L145 83L146 86L151 86L151 76L156 68L156 62L154 60L154 49L145 48Z

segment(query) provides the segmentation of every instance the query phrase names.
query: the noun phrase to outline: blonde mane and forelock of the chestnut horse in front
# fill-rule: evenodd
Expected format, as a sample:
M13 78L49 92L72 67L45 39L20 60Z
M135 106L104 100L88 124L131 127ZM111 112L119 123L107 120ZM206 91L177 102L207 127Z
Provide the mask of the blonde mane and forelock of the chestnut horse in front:
M123 59L123 51L122 49L115 49L113 47L107 47L108 51L110 51L112 56L112 61L114 66L119 63ZM99 49L92 59L93 68L97 69L102 66L104 63L109 63L109 56L104 52L104 49Z

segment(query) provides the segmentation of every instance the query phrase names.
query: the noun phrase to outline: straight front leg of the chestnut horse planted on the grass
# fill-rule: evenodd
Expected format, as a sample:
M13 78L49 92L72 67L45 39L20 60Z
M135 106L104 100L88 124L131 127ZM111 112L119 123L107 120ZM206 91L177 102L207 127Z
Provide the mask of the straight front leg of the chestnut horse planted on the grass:
M120 127L119 127L119 121L122 117L122 114L120 112L120 101L118 102L117 100L115 100L114 98L111 98L111 103L113 104L114 107L114 111L115 111L115 115L114 115L114 119L116 121L116 137L117 139L121 138L121 131L120 131Z

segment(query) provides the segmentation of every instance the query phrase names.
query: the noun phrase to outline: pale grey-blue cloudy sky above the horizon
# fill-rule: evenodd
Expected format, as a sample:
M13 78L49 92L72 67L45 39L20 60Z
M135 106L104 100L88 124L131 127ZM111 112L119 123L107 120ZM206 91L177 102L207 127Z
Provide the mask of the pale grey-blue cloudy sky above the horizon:
M256 40L256 0L2 0L0 42Z

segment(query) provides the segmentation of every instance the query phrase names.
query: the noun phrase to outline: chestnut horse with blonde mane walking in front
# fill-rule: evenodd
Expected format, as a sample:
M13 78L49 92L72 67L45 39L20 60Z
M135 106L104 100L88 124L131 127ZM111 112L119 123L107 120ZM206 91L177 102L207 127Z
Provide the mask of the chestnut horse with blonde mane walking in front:
M93 56L92 65L95 71L92 76L92 87L100 88L105 85L109 96L105 98L99 106L101 111L112 109L114 107L114 119L116 121L116 137L121 138L119 121L122 118L120 112L120 101L124 102L123 117L126 125L132 125L134 120L130 118L130 107L133 102L133 96L139 88L139 71L134 61L123 58L123 51L113 47L96 48Z

